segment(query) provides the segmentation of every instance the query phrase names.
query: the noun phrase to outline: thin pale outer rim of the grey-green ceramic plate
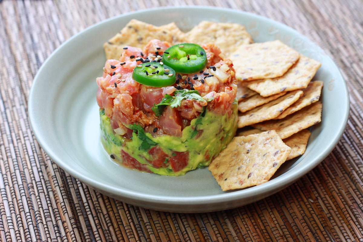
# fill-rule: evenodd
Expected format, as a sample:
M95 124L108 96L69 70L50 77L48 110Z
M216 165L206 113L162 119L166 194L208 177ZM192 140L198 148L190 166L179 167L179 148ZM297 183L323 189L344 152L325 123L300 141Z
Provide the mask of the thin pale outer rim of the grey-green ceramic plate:
M75 171L69 164L67 164L67 163L63 162L62 160L58 159L56 153L54 151L52 151L51 148L48 147L48 145L44 142L44 138L42 137L40 132L37 130L37 127L35 125L36 117L34 117L34 113L33 113L34 90L36 89L37 82L39 82L37 80L39 79L40 74L44 71L47 63L52 59L52 57L55 54L60 52L65 45L68 45L75 38L77 38L78 36L81 36L83 33L89 31L90 29L93 29L95 26L102 25L105 22L113 21L113 20L123 18L123 17L127 17L127 16L130 17L130 16L133 16L133 15L139 15L139 14L146 13L146 12L168 10L168 9L169 10L170 9L172 9L172 10L178 9L179 11L180 11L180 9L203 9L203 10L213 9L213 10L217 10L217 11L234 12L234 13L238 13L238 14L242 14L242 15L253 16L254 18L257 18L257 19L262 19L264 21L272 22L274 25L278 25L279 28L280 27L285 28L285 29L288 29L289 31L297 33L297 34L307 38L307 40L309 40L311 43L315 44L315 42L311 41L307 36L299 33L297 30L295 30L295 29L291 28L290 26L287 26L287 25L285 25L285 24L283 24L281 22L275 21L273 19L269 19L267 17L257 15L255 13L245 12L245 11L241 11L241 10L237 10L237 9L219 8L219 7L213 7L213 6L155 7L155 8L142 9L142 10L138 10L138 11L134 11L134 12L129 12L129 13L117 15L117 16L114 16L114 17L99 21L96 24L93 24L93 25L81 30L80 32L73 35L72 37L70 37L65 42L63 42L60 46L58 46L58 48L56 48L52 52L52 54L50 54L50 56L48 58L46 58L44 63L42 63L41 67L38 69L37 74L35 75L35 77L33 79L32 86L30 87L30 92L29 92L29 96L28 96L28 116L29 116L30 126L32 128L33 134L34 134L37 142L44 149L44 151L48 154L48 156L52 159L52 161L54 161L54 163L56 163L59 167L64 169L64 171L66 171L67 173L69 173L73 177L76 177L78 180L82 181L86 185L94 188L95 190L102 190L103 191L102 193L105 193L105 194L107 194L108 196L111 196L111 197L113 197L112 194L111 194L111 193L113 193L113 194L118 194L118 196L121 196L123 198L128 198L129 200L132 200L132 201L136 200L136 201L144 202L147 199L147 201L150 202L151 205L152 204L159 204L159 205L172 205L172 206L180 206L180 205L188 206L188 205L201 205L201 204L209 204L209 205L210 204L218 204L218 203L221 203L221 202L235 201L236 199L242 198L242 197L243 198L251 198L251 197L253 198L254 195L260 194L261 191L264 191L264 193L265 193L266 190L268 190L268 189L272 190L272 192L270 192L271 194L276 193L276 192L284 189L286 186L291 185L294 181L300 179L302 176L306 175L306 173L311 171L314 167L316 167L319 163L321 163L325 159L325 157L327 157L331 153L331 151L335 148L335 146L339 142L339 140L342 137L343 132L344 132L344 130L346 128L347 121L348 121L348 114L349 114L349 111L350 111L350 108L349 108L350 107L350 100L349 100L349 93L348 93L347 83L344 80L344 78L343 78L343 76L342 76L342 74L340 72L339 67L335 64L334 60L330 56L327 56L326 53L323 52L327 56L327 58L329 58L329 61L331 61L334 64L334 66L337 68L338 73L339 73L339 77L335 77L335 78L341 79L343 81L342 84L344 85L345 90L346 90L345 97L347 98L347 102L346 102L346 112L344 114L344 119L343 119L343 124L344 125L342 127L340 127L340 130L337 132L338 135L336 135L335 139L330 142L330 145L327 145L327 148L324 150L324 152L319 154L317 159L315 159L315 162L310 162L309 164L305 165L301 169L298 169L298 170L295 170L295 171L290 170L290 171L287 171L286 173L283 173L282 175L280 175L280 176L284 176L284 180L283 181L278 180L280 182L278 182L278 189L277 190L273 189L274 185L276 183L276 182L274 182L275 179L273 179L273 180L271 180L269 182L266 182L264 184L261 184L261 185L258 185L258 186L253 186L253 189L246 188L246 189L242 189L242 190L234 190L234 191L231 191L231 192L213 194L213 195L174 196L174 197L161 196L161 195L152 195L152 194L145 194L145 193L142 193L142 192L135 192L135 191L132 191L131 189L117 187L116 184L113 184L113 186L111 186L108 183L102 183L102 182L94 181L94 180L92 180L91 177L84 176L83 173ZM317 44L315 44L315 45L318 46ZM318 46L318 47L321 48L320 46ZM299 174L299 172L302 172L302 173ZM267 196L270 196L271 194L269 194ZM266 196L264 196L264 197L266 197ZM261 199L262 198L259 198L257 200L261 200ZM255 200L255 201L257 201L257 200ZM134 201L132 204L137 205L136 201ZM142 207L146 208L146 206L144 206L144 205L137 205L137 206L142 206ZM236 207L236 206L234 206L234 207ZM157 210L162 210L162 209L157 209ZM178 210L180 210L180 211L178 211ZM201 210L203 210L203 209L201 209ZM203 212L207 211L207 210L203 210ZM219 209L219 210L221 210L221 209ZM172 211L184 212L183 209L175 209L175 208L172 209Z

